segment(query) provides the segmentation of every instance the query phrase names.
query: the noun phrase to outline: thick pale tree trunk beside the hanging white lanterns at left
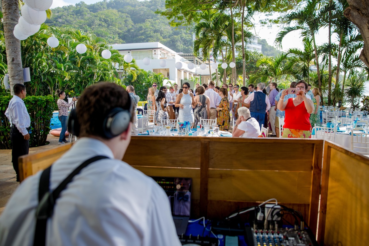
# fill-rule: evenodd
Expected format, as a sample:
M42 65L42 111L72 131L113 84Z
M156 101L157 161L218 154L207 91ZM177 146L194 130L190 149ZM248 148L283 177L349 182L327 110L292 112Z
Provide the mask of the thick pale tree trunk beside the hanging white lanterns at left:
M21 41L14 37L14 26L18 23L18 0L3 0L3 24L8 62L9 84L11 95L14 95L13 87L16 83L23 84L23 69L21 57Z

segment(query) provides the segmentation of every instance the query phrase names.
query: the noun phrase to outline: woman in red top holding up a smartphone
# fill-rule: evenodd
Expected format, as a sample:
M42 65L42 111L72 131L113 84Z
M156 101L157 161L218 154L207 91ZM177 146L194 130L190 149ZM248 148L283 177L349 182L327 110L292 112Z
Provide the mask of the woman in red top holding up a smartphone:
M296 85L296 98L283 102L288 90L283 90L277 109L285 111L282 137L311 138L310 114L314 111L313 101L306 97L307 83L303 80Z

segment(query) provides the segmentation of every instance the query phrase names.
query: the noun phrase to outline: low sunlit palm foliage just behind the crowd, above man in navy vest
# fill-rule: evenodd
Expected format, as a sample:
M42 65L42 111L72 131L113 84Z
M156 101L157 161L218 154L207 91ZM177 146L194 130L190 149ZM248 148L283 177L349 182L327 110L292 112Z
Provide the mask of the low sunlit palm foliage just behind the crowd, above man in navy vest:
M283 65L286 63L286 65ZM277 58L265 57L256 62L256 66L263 66L260 72L251 75L249 82L254 83L256 81L274 82L277 83L283 75L296 78L297 72L290 66L288 62L288 55L285 53L280 54Z

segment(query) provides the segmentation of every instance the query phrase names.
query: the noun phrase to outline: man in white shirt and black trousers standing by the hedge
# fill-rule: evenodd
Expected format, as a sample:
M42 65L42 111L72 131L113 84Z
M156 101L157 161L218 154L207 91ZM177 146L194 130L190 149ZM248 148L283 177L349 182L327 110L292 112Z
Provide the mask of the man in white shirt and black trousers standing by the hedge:
M25 86L15 84L13 90L14 96L9 102L5 116L10 121L10 141L13 146L11 150L11 162L17 174L17 182L19 182L18 157L28 154L30 146L30 133L28 130L31 125L31 118L23 102L23 99L27 95Z

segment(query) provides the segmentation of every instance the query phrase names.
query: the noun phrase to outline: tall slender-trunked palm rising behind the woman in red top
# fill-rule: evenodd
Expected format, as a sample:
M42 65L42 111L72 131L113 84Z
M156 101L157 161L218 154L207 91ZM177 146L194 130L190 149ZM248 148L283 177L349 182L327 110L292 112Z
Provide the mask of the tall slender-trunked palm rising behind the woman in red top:
M318 0L308 0L306 6L297 12L292 12L286 16L287 24L290 25L293 21L296 25L293 27L285 27L284 30L278 33L275 40L276 44L281 46L283 38L291 31L301 30L301 37L303 40L311 39L313 41L314 53L315 53L315 64L317 66L317 76L318 76L318 88L321 90L321 78L320 78L320 68L318 60L317 45L315 43L315 34L321 27L321 13L318 10Z

